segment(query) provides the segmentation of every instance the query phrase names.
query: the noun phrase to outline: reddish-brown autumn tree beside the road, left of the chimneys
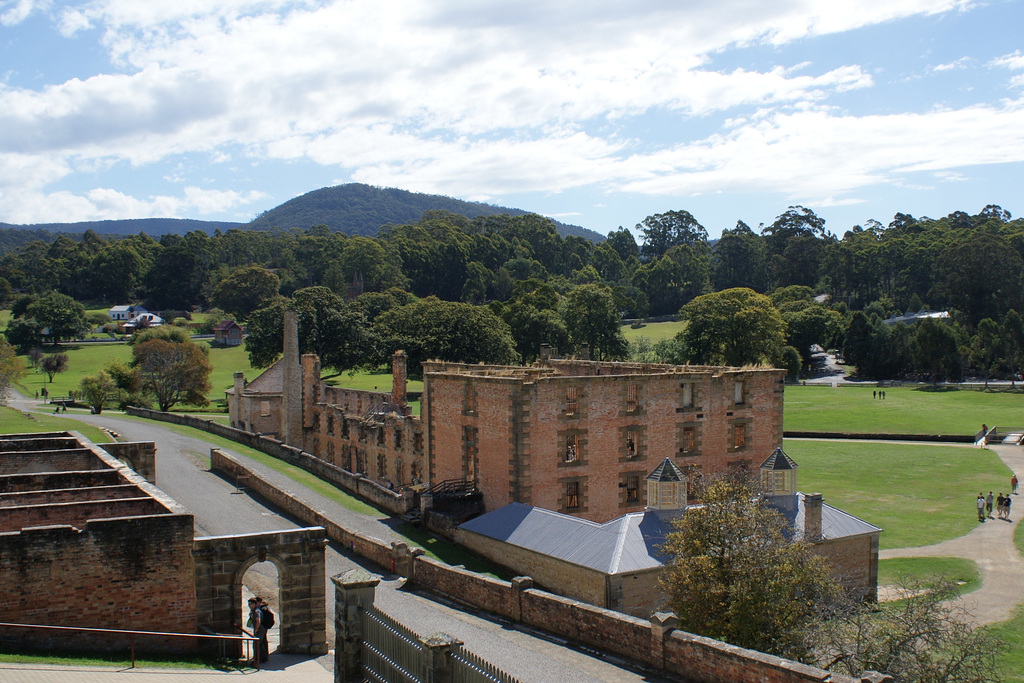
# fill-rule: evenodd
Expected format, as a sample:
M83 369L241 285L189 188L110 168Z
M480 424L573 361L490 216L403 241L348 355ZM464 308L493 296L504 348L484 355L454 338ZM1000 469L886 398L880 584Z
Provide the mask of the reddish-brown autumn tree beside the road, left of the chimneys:
M210 401L210 359L193 342L178 344L151 339L132 348L132 365L143 390L153 394L161 411L178 403L206 405Z

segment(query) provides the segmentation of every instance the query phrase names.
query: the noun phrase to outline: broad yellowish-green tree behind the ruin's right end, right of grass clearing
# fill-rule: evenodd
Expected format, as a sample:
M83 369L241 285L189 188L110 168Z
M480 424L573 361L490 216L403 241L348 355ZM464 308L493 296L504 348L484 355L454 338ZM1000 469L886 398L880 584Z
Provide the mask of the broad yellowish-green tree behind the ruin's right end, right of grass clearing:
M775 365L785 345L785 323L771 300L734 288L706 294L679 311L690 360L701 365Z

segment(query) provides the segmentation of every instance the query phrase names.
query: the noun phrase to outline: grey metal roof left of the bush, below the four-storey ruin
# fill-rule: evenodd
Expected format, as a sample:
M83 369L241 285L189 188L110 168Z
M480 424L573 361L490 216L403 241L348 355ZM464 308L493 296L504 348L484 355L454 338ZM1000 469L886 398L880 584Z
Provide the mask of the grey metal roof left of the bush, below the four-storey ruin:
M670 526L652 511L598 524L522 503L510 503L459 528L604 573L662 566L657 548Z

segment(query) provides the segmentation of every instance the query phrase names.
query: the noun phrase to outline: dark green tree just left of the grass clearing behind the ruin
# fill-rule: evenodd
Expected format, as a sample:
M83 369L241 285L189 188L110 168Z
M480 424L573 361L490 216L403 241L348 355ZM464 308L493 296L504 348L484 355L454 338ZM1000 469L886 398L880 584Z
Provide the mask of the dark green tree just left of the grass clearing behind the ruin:
M572 288L560 305L570 345L590 346L590 357L613 360L626 357L629 345L623 336L611 290L602 285Z

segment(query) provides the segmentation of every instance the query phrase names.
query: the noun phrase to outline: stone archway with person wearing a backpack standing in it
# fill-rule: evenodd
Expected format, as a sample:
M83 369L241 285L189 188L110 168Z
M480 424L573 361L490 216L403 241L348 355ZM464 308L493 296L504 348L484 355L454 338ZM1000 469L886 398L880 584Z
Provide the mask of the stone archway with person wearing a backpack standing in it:
M257 562L278 567L281 605L280 649L324 654L327 604L323 526L196 539L196 616L200 631L238 633L242 613L242 578Z

